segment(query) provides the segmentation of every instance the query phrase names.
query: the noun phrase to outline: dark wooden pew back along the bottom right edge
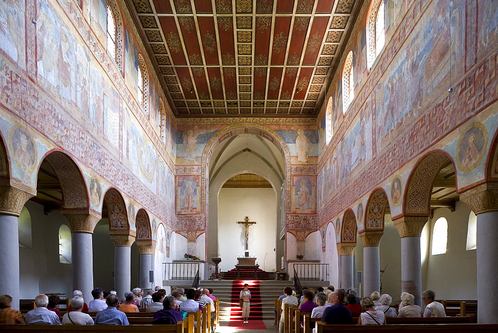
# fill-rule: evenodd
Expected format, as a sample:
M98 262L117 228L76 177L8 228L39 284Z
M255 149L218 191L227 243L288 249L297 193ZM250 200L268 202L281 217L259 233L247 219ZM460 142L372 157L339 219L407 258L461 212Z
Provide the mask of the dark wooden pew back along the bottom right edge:
M316 333L398 333L398 325L322 325L317 322L315 326ZM498 325L487 324L416 324L403 325L403 332L407 333L495 333L498 332Z

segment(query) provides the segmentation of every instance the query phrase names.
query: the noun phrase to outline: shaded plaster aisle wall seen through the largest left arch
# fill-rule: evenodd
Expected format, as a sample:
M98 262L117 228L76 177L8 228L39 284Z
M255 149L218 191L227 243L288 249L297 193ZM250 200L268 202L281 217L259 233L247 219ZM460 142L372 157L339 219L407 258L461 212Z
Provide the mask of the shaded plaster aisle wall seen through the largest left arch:
M41 293L72 294L72 265L59 262L58 234L67 220L60 211L44 214L43 206L33 201L25 204L31 217L31 244L26 221L22 223L22 246L19 247L19 297L33 299ZM27 218L24 215L24 218Z

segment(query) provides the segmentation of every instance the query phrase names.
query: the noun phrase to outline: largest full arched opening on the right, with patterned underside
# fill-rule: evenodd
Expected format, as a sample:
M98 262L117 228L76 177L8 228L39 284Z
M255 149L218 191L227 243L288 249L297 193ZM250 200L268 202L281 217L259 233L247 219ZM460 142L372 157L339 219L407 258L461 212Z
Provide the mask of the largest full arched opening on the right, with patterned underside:
M459 277L463 276L460 271L461 266L454 267L453 264L457 260L466 260L458 255L454 257L455 260L449 260L456 254L455 252L437 256L432 255L430 251L432 242L441 241L438 237L432 237L431 232L439 217L445 217L450 224L453 224L451 228L453 233L448 235L448 240L451 238L451 242L460 238L459 233L462 230L467 230L470 208L459 199L455 164L449 154L444 151L425 154L408 177L403 198L403 213L392 217L401 237L401 292L413 294L417 305L422 304L421 292L425 286L437 289L438 297L451 299L457 296L451 295L451 290L454 289L451 286L459 285L461 287L455 292L460 298L464 297L462 294L464 289L474 290L471 293L475 298L476 278L460 280ZM393 203L392 191L391 203ZM452 251L458 247L460 245L454 244ZM446 283L448 276L459 281L448 284Z

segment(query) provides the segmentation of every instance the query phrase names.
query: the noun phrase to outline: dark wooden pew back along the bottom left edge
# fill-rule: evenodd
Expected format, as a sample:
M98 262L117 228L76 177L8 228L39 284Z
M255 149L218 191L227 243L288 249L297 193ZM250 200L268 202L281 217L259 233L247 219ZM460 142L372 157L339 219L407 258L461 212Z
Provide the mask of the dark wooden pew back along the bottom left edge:
M145 332L145 333L184 333L184 323L176 325L6 325L0 324L0 332L21 331L24 333L66 333L66 332ZM159 328L160 327L160 328ZM193 333L188 331L187 333Z

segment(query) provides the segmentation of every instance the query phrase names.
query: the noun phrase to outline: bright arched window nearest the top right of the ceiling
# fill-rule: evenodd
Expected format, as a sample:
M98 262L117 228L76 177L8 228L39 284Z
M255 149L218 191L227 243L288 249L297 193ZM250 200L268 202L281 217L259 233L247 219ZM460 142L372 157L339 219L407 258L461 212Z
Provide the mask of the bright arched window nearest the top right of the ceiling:
M384 0L373 0L367 21L367 64L373 62L385 44L385 7Z

